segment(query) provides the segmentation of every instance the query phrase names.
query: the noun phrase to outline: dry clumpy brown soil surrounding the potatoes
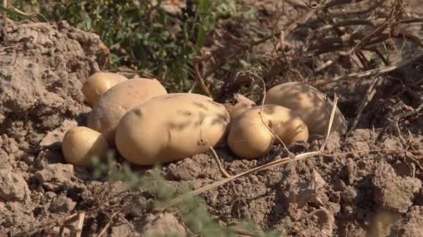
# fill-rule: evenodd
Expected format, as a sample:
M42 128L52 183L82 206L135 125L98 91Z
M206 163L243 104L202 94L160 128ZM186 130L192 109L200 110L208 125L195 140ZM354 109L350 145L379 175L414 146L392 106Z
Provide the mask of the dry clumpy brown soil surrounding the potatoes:
M271 19L276 14L272 4L261 1L255 8ZM284 17L281 22L291 19ZM31 231L83 211L93 202L93 193L104 188L115 198L111 203L148 202L151 197L127 191L121 182L109 187L102 179L93 179L91 170L65 164L61 154L64 132L86 124L90 108L83 103L81 85L99 71L99 37L63 22L8 22L4 32L0 33L4 39L0 41L0 236ZM257 51L266 51L266 46ZM389 78L406 72L413 80L410 75L422 73L417 66L421 68L423 60ZM340 110L350 122L362 93L361 87L337 91ZM382 91L376 102L383 96ZM346 137L330 136L331 155L241 177L201 196L222 225L248 220L263 229L285 228L289 236L422 236L423 116L401 119L401 136L392 122L413 105L407 94L372 103L357 130ZM299 154L318 150L321 143L314 139L289 149ZM375 149L409 152L365 152ZM253 160L235 157L226 146L217 152L225 170L234 175L280 159L281 150L275 148L269 156ZM162 171L175 187L200 188L224 178L205 154L168 164ZM98 233L108 220L101 215L89 220L83 235ZM53 236L59 232L74 236L77 230L72 224L49 231ZM106 236L148 236L154 231L189 232L178 213L145 212L112 222Z

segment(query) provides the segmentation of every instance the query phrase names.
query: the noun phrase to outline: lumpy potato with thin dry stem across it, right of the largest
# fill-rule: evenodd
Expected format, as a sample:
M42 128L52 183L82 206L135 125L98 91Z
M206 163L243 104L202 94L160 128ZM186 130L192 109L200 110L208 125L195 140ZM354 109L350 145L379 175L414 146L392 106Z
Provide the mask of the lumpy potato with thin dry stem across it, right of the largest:
M260 117L260 110L262 116ZM292 110L279 105L255 106L238 116L230 125L228 144L239 157L262 157L275 143L278 135L286 146L294 141L307 141L308 128Z

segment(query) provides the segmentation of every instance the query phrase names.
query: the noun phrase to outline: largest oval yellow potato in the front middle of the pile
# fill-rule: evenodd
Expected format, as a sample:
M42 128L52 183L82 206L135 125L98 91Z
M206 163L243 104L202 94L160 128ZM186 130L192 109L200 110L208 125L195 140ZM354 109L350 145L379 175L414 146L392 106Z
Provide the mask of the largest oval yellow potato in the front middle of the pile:
M141 166L177 161L218 146L229 121L225 107L207 96L159 96L123 116L116 129L116 148Z

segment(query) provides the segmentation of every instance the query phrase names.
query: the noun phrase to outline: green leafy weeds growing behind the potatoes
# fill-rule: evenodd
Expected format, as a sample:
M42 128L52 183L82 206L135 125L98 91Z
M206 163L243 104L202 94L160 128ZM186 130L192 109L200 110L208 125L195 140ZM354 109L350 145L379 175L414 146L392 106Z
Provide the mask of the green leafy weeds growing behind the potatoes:
M237 6L234 0L191 0L186 9L170 12L161 6L163 0L153 2L21 0L15 4L22 9L35 6L50 21L66 20L97 33L111 49L110 69L129 67L168 82L170 91L186 91L193 83L193 57L200 54L219 18L239 14Z

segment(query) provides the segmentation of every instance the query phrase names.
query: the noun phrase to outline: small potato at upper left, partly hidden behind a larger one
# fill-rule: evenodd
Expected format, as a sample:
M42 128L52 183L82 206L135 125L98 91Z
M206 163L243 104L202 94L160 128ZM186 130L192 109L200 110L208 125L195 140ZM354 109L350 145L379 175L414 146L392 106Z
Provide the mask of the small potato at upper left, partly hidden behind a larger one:
M118 73L97 72L83 83L82 93L88 100L88 105L93 107L104 92L125 80L128 80L128 78Z

